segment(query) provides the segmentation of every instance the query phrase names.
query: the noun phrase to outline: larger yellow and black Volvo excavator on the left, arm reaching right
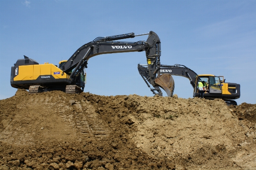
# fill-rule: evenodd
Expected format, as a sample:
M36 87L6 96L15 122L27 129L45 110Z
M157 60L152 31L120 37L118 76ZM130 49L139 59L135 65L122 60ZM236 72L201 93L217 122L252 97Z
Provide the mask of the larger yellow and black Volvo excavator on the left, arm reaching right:
M146 41L120 42L116 40L134 38L136 36L148 35ZM110 37L97 37L95 40L82 45L67 60L59 62L59 66L48 62L39 64L34 59L24 56L18 59L11 69L11 85L14 88L29 90L29 93L61 90L66 93L80 93L84 90L88 60L100 54L123 53L123 52L145 51L148 62L148 74L150 83L154 87L154 94L162 95L160 85L155 83L156 71L160 65L160 38L150 31L146 34L134 33L121 34ZM167 83L173 83L170 78ZM167 93L172 93L172 87L165 88Z

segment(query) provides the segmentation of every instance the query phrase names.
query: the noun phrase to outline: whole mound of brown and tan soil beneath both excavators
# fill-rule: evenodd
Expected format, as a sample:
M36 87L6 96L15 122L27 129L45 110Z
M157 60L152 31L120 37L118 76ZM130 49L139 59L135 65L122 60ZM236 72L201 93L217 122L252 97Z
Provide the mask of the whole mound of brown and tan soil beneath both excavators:
M0 100L0 170L256 170L256 105L61 91Z

